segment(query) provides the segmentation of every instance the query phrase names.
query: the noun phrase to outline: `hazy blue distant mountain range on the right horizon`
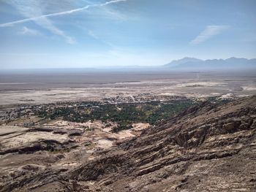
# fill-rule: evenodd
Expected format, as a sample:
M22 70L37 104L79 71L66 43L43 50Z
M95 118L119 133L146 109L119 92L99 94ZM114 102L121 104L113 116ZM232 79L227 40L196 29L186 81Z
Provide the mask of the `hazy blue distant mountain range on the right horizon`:
M256 69L256 58L227 58L227 59L208 59L181 58L174 60L165 67L170 69L184 70L217 70L217 69Z

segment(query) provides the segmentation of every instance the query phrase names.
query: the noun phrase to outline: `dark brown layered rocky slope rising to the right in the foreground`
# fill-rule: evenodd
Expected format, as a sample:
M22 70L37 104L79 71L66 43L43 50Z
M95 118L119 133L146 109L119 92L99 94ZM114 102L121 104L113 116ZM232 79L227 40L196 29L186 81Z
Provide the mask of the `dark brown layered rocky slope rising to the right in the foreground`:
M0 191L256 191L256 96L189 108L72 169L27 164Z

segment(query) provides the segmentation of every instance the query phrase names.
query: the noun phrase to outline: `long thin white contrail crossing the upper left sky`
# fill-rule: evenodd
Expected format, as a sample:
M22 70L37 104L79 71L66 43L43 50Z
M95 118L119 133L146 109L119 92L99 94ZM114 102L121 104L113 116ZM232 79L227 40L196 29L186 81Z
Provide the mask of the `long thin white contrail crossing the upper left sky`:
M83 11L85 9L89 9L91 7L103 7L105 5L116 4L116 3L121 2L121 1L127 1L127 0L112 0L112 1L107 1L103 4L91 4L91 5L87 5L86 7L81 7L81 8L78 8L78 9L72 9L72 10L69 10L69 11L55 12L55 13L50 13L50 14L46 14L46 15L40 15L40 16L37 16L37 17L34 17L34 18L26 18L26 19L23 19L23 20L15 20L15 21L12 21L10 23L2 23L2 24L0 24L0 27L12 26L14 24L25 23L25 22L28 22L28 21L31 21L31 20L38 20L38 19L41 19L41 18L48 18L48 17L54 17L54 16L58 16L58 15L72 14L73 12L80 12L80 11Z

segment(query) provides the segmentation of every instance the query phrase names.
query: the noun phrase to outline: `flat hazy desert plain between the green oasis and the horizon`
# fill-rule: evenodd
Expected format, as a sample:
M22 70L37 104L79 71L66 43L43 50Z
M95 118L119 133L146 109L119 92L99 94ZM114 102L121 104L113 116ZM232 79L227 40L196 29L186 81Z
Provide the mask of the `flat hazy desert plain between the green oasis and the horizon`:
M1 74L0 105L136 99L138 96L249 96L255 72L50 72Z

